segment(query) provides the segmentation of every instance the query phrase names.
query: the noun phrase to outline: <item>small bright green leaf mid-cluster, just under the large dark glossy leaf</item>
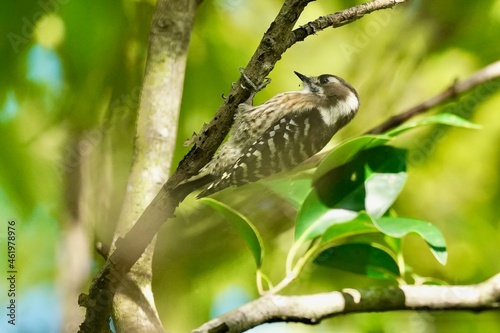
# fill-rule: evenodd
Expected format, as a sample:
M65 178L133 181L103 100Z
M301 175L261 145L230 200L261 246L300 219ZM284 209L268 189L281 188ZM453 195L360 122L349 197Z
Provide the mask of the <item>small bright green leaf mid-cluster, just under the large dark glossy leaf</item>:
M373 232L379 232L379 230L373 224L372 219L368 215L360 213L351 221L331 225L322 234L320 245L326 245L345 237Z

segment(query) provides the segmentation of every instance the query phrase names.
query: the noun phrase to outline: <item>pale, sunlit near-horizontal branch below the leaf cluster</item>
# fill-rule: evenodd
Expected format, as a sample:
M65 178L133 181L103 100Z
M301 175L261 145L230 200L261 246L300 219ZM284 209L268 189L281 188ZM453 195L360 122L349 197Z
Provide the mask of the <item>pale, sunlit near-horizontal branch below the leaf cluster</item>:
M215 318L193 333L243 332L264 323L318 324L356 312L471 310L500 308L500 274L468 286L400 286L344 289L306 296L265 295Z

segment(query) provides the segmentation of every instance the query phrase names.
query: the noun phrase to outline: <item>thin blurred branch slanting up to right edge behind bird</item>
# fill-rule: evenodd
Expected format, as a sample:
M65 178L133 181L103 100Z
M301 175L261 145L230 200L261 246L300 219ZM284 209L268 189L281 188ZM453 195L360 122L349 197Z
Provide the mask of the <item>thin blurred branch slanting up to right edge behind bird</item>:
M451 98L457 97L482 83L493 80L500 77L500 61L496 61L469 76L463 81L456 81L450 87L443 90L441 93L431 97L425 102L418 104L411 109L400 113L396 116L392 116L382 124L372 128L366 134L380 134L385 131L397 127L407 121L410 118L415 117L418 114L429 111L433 107L448 101Z

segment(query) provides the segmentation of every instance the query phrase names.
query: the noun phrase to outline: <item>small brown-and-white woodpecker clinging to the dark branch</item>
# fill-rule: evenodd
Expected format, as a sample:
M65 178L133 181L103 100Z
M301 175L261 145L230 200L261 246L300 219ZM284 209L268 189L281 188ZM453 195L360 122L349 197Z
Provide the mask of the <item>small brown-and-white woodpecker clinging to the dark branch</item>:
M291 169L354 118L358 93L344 79L294 73L303 90L280 93L259 106L240 104L226 143L197 176L179 185L181 191L209 184L197 196L202 198Z

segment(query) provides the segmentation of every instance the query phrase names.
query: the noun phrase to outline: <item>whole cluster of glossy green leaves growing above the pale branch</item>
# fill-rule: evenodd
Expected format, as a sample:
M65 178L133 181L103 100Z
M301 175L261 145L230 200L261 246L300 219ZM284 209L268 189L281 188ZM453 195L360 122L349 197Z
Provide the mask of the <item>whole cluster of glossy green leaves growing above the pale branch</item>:
M311 261L399 284L441 283L413 273L404 261L402 239L410 233L418 235L445 265L443 233L430 222L400 217L391 209L408 177L406 150L393 145L394 138L430 124L478 127L449 113L428 116L381 135L362 135L343 142L323 158L309 178L287 182L288 186L283 180L268 184L298 211L294 243L285 262L286 276L276 285L261 271L264 245L254 224L220 201L202 201L227 219L245 240L257 266L261 294L281 291Z

